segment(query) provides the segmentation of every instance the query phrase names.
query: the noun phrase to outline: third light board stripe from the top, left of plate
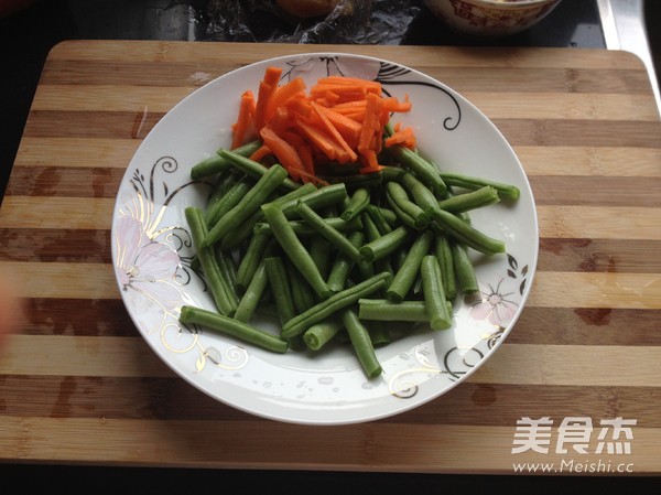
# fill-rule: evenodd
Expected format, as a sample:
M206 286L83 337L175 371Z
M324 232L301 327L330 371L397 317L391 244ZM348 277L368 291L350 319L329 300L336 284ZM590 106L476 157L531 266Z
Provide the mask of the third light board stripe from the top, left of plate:
M142 141L24 137L14 166L126 169Z

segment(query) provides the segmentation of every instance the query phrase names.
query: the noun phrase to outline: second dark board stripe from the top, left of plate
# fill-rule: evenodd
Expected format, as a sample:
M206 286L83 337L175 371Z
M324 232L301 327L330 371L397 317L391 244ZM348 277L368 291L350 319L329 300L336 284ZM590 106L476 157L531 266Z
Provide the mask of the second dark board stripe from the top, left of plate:
M162 112L32 110L24 136L31 138L143 139ZM144 121L143 121L144 120Z

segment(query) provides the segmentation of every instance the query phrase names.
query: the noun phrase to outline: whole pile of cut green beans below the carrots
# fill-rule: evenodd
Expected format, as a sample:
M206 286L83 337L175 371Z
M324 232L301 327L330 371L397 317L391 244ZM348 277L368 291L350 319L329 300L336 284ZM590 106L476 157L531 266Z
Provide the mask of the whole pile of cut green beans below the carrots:
M513 185L441 172L399 146L367 179L300 184L250 160L258 147L220 149L192 169L216 184L206 208L186 208L216 312L184 305L184 324L275 353L350 345L373 379L376 348L393 338L384 322L449 329L454 301L479 290L470 250L505 252L469 212L516 201ZM258 314L275 315L280 332L253 324Z

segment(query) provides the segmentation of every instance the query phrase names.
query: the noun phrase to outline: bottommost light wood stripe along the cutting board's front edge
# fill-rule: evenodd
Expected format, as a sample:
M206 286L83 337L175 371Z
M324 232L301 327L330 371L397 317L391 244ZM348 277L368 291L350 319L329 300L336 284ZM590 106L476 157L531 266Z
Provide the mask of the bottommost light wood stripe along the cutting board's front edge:
M600 418L595 418L598 422ZM606 418L610 419L610 418ZM562 418L554 418L560 423ZM512 454L516 424L420 426L373 422L314 428L266 422L254 435L253 421L142 421L3 417L0 456L35 461L66 461L159 466L349 470L370 472L513 474L512 463L555 463L560 469L571 454ZM560 424L556 424L556 429ZM173 434L173 431L181 434ZM621 455L590 455L613 469L624 462L633 473L654 472L661 463L661 429L635 427L632 451ZM99 441L99 438L102 441ZM130 442L127 441L130 439ZM250 439L250 441L246 441ZM402 441L407 439L407 441ZM596 445L596 432L594 434ZM62 449L66 444L67 449ZM282 449L286 444L288 449ZM570 445L571 448L571 445ZM279 452L267 458L263 452ZM335 452L342 451L338 458ZM10 458L11 456L11 458ZM615 459L614 459L615 458ZM479 459L479 465L476 464ZM158 460L158 461L156 461ZM576 462L584 462L581 455ZM567 467L565 467L566 470Z

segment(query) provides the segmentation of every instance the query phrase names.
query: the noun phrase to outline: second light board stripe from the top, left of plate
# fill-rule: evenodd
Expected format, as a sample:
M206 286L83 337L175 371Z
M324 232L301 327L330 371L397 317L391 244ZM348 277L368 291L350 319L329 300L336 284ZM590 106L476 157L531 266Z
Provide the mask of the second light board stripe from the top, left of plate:
M186 86L42 85L34 95L32 109L48 111L112 109L113 111L165 114L195 89L196 87Z

